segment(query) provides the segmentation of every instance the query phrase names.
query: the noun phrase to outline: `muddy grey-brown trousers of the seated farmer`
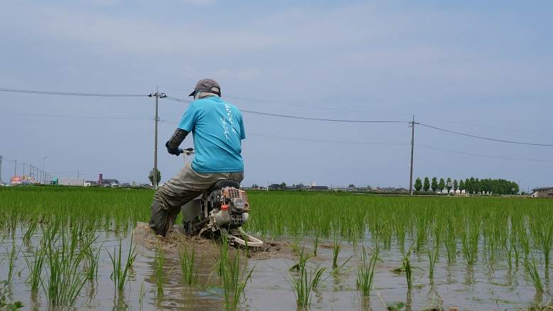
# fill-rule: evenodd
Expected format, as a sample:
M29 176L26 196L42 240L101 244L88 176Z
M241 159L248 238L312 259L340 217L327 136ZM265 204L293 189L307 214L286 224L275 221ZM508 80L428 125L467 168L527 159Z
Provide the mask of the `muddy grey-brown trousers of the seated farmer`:
M209 190L215 182L232 180L242 182L243 172L196 173L187 163L175 177L161 185L151 204L150 228L166 236L181 212L181 207Z

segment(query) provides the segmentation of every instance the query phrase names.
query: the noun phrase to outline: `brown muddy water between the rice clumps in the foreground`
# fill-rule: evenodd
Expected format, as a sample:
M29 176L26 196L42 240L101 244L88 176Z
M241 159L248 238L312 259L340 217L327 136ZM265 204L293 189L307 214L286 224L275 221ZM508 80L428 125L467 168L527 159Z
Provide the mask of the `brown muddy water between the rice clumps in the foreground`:
M98 233L100 236L96 246L102 246L100 265L96 281L87 281L75 302L78 310L223 310L222 289L218 286L218 278L213 274L218 246L210 240L190 239L176 233L170 239L160 241L139 224L135 229L136 261L134 261L131 279L123 295L116 295L114 285L110 280L112 263L107 250L113 251L123 239L125 252L130 244L130 236L120 238L112 233ZM8 257L11 251L11 238L0 239L0 279L6 279ZM44 310L48 302L43 290L38 295L31 295L26 283L28 271L23 256L31 256L38 244L38 237L31 239L31 244L22 242L22 234L16 235L16 246L21 247L16 261L16 275L10 286L12 300L21 300L25 309ZM296 310L296 299L291 290L289 267L295 263L291 244L286 241L275 241L267 249L252 253L251 258L245 258L247 268L253 268L252 281L245 289L245 301L242 310ZM166 253L164 271L167 282L163 286L163 295L156 293L154 277L154 256L156 245ZM200 261L200 285L183 287L181 282L180 261L178 249L183 245L196 245ZM299 241L306 251L311 251L311 239ZM408 302L412 310L424 307L443 305L455 306L461 310L517 310L527 307L532 302L545 300L546 296L536 295L530 280L525 276L522 266L509 271L503 261L493 265L478 261L472 268L467 268L461 258L457 263L448 265L442 256L436 263L434 280L429 280L426 255L412 255L412 266L416 266L413 276L413 288L407 289L404 273L393 270L401 266L401 254L397 250L382 251L382 262L377 263L375 273L375 290L370 299L363 298L355 288L355 269L359 265L358 258L353 258L345 265L345 270L338 275L330 275L332 264L331 241L321 241L318 256L311 260L313 266L326 267L323 280L313 293L311 309L313 310L383 310L383 305L393 302ZM367 241L370 246L370 242ZM343 243L338 263L341 263L359 249ZM443 255L443 254L442 254ZM232 255L231 255L232 256ZM30 258L32 261L32 258ZM544 286L551 290L549 271L540 265L540 274ZM45 278L46 274L43 273Z

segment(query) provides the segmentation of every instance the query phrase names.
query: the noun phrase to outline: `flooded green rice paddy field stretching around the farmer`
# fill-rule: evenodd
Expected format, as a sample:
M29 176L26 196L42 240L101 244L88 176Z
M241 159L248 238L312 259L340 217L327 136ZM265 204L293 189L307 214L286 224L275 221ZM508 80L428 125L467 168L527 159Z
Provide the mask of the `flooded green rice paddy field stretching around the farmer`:
M553 308L553 200L248 192L260 256L153 236L153 194L1 187L0 309Z

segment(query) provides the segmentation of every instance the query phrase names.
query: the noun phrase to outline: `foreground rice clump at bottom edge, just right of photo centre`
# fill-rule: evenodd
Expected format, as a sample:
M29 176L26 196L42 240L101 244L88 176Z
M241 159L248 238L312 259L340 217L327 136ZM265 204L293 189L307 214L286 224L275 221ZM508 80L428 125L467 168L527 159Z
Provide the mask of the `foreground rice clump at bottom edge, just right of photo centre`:
M298 272L289 281L299 307L311 305L311 292L321 281L321 276L325 270L325 268L317 267L308 272L306 267L308 259L309 256L302 249L299 252Z

